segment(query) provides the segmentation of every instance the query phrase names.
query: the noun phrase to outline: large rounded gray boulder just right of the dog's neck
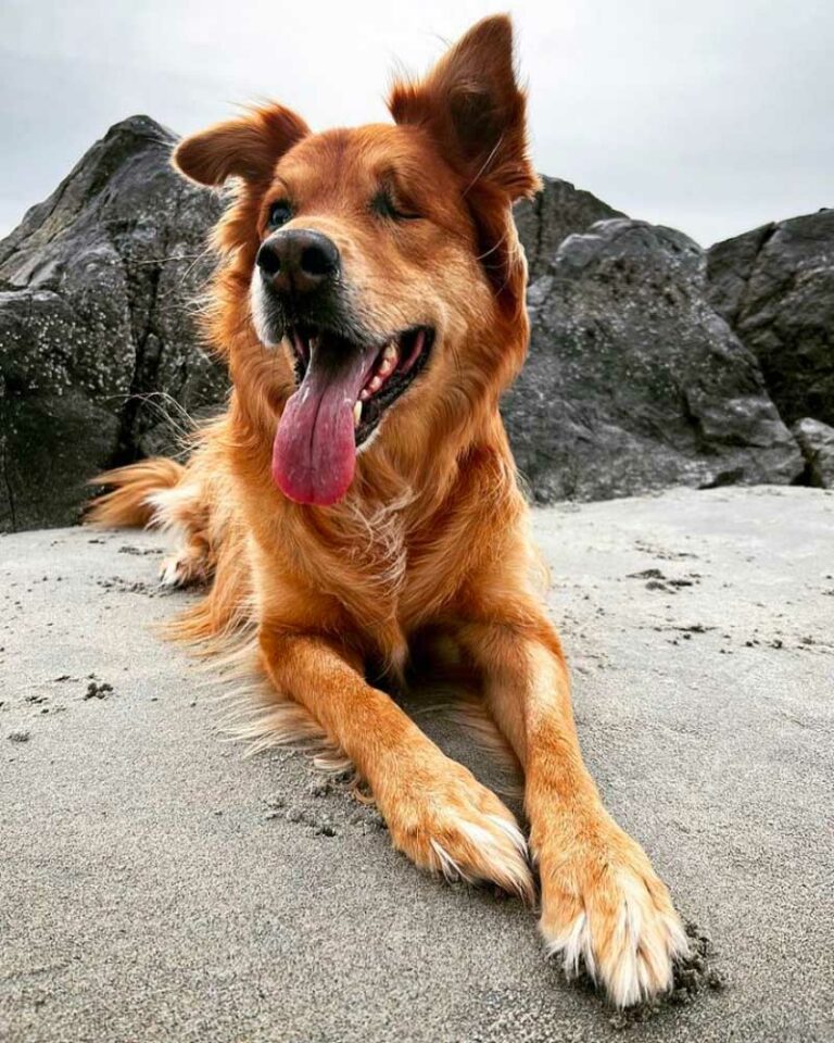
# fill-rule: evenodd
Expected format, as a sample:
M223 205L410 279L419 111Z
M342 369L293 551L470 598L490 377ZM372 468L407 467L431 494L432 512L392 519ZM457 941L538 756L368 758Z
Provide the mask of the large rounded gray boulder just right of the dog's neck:
M530 289L530 357L503 404L534 499L788 483L803 460L755 356L706 299L682 233L601 222Z

